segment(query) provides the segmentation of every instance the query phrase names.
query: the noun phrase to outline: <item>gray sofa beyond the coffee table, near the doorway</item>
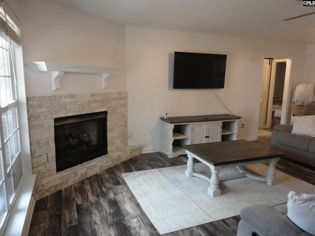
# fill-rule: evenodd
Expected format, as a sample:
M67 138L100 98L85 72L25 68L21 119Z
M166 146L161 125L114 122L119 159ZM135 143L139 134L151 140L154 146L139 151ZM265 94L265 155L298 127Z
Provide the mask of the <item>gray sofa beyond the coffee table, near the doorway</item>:
M306 104L299 116L315 115L315 105ZM315 137L292 134L293 125L277 124L271 134L271 148L284 157L315 167Z

